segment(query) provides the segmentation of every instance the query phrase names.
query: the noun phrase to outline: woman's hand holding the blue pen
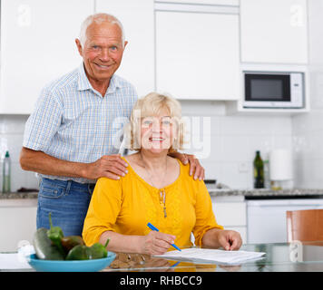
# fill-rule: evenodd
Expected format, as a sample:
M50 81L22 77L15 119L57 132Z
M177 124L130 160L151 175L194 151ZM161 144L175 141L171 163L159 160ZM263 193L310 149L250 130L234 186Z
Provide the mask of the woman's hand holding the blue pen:
M151 231L147 236L141 237L139 253L149 255L162 255L167 252L174 243L175 236Z

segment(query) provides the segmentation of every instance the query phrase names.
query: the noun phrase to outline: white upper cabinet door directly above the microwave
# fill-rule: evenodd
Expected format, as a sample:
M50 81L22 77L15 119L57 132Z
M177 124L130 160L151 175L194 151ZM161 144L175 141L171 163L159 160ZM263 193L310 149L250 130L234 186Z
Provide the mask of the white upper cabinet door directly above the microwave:
M306 0L240 0L241 61L308 63Z

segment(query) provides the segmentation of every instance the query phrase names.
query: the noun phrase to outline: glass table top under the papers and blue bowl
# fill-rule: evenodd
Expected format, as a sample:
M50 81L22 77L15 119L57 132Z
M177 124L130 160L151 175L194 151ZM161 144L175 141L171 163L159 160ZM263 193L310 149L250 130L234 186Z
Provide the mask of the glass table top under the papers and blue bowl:
M242 245L240 250L265 252L258 260L240 265L175 261L162 257L116 253L104 272L323 272L323 241ZM8 271L0 269L0 271ZM12 270L14 271L14 270ZM19 271L16 269L15 271ZM21 271L34 271L22 269Z

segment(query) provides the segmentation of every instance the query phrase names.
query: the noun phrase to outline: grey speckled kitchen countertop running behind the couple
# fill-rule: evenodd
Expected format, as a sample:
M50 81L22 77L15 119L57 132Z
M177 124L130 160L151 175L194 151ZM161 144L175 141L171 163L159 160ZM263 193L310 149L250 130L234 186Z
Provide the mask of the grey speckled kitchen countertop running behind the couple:
M211 197L240 196L245 198L282 198L282 197L316 197L323 196L323 189L212 189L208 188ZM0 199L32 199L38 192L0 193Z

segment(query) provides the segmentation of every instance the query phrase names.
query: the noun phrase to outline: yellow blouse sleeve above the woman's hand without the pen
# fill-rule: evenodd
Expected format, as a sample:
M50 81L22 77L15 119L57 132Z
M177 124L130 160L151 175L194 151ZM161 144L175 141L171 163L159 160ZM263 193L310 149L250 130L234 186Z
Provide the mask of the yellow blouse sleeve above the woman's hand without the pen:
M204 234L211 228L223 229L222 226L218 225L214 217L212 203L210 200L210 194L206 188L204 181L196 181L196 204L195 204L195 215L196 223L192 232L195 237L195 245L201 246L201 240Z

